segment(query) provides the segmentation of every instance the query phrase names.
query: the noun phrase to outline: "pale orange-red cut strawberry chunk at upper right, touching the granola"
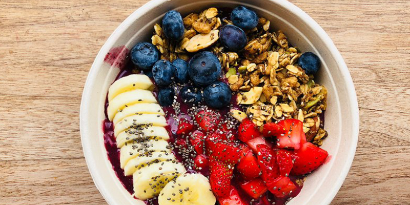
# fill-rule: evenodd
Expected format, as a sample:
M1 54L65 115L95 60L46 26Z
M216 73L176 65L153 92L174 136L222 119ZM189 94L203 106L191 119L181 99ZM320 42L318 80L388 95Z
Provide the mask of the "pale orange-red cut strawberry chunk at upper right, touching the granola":
M303 122L298 119L285 119L278 122L279 126L285 128L286 133L277 136L278 148L299 149L306 142L306 136L303 132Z

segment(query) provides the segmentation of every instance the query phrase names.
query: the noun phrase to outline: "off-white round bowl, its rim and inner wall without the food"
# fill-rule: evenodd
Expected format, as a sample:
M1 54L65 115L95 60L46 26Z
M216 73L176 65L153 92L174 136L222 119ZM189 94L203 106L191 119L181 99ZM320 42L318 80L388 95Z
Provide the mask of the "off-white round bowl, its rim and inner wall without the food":
M144 204L134 199L121 185L108 160L104 146L102 122L108 87L119 69L104 63L111 48L137 42L150 42L155 23L174 9L182 16L209 7L244 5L271 21L271 29L282 30L289 42L301 51L312 51L321 58L317 75L328 90L325 129L329 137L322 146L330 160L308 176L301 193L291 200L295 204L330 204L340 189L354 158L359 134L359 110L350 73L330 37L306 13L283 0L207 1L153 0L132 13L108 38L92 65L81 100L80 130L84 155L96 187L109 204Z

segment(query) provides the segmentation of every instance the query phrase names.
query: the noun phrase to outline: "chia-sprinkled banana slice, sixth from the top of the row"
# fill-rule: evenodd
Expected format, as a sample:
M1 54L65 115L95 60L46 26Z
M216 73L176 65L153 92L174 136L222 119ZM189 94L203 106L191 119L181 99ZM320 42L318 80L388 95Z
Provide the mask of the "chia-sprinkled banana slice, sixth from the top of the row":
M130 159L155 151L171 152L171 148L168 145L168 142L162 139L150 139L141 143L131 141L129 144L122 146L119 151L121 169L124 169Z

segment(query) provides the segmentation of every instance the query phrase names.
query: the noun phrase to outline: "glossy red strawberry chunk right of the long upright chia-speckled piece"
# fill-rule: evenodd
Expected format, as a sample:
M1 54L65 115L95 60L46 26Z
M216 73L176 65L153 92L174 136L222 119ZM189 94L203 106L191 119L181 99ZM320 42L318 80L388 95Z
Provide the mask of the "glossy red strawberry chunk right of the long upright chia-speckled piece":
M260 169L256 157L252 152L242 157L236 166L241 176L246 180L251 180L259 176Z

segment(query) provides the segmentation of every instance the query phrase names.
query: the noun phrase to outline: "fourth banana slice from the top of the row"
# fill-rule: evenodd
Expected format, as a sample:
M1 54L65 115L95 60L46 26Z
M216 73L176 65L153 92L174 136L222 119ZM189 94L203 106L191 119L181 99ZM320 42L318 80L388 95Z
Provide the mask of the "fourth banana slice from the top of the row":
M132 115L114 125L114 135L117 136L120 132L128 128L137 129L141 125L165 127L167 126L167 119L159 114Z

